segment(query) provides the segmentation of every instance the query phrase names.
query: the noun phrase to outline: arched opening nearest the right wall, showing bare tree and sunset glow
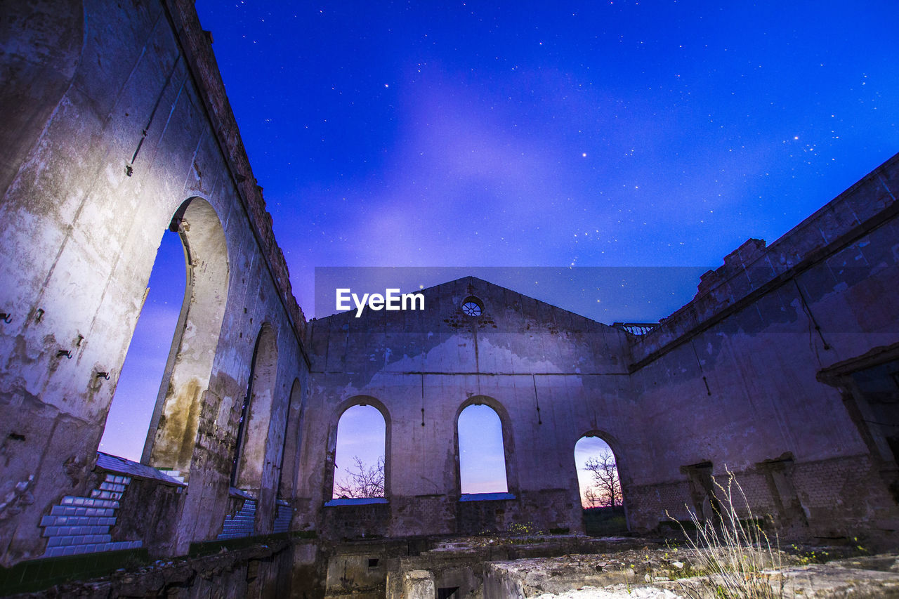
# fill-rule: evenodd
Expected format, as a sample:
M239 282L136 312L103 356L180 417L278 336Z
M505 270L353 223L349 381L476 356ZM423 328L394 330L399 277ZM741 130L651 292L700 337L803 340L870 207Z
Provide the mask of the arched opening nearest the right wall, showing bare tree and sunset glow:
M627 532L618 463L609 443L594 435L581 437L574 445L574 462L586 532L600 536Z

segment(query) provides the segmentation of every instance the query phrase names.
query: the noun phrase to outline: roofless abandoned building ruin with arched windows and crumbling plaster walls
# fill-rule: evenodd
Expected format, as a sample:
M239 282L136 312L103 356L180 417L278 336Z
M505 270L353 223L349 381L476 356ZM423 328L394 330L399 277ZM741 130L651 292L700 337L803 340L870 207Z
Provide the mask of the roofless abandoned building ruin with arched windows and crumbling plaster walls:
M347 568L379 596L449 588L399 557L514 523L583 531L585 434L615 452L634 533L708 513L727 469L785 533L895 535L899 156L639 335L470 277L424 311L307 320L193 4L124 4L13 0L0 22L5 588L106 553L212 554L179 579L198 595L323 596ZM166 229L188 291L137 463L97 448ZM461 493L472 404L502 422L503 496ZM384 416L386 497L335 505L357 405Z

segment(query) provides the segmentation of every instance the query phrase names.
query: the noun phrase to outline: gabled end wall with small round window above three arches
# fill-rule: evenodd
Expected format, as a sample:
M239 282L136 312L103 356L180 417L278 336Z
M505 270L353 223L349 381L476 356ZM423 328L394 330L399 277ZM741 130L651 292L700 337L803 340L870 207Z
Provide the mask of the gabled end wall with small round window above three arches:
M463 407L481 402L503 420L516 497L495 502L503 504L497 527L579 530L578 439L601 432L618 452L625 484L645 460L625 333L472 277L423 294L423 311L346 312L309 323L313 363L298 484L307 524L316 525L331 498L339 417L369 403L387 413L389 438L389 515L379 532L458 532L467 506L458 502L456 422ZM480 317L462 313L468 296L483 302ZM325 521L352 518L352 509L325 507Z

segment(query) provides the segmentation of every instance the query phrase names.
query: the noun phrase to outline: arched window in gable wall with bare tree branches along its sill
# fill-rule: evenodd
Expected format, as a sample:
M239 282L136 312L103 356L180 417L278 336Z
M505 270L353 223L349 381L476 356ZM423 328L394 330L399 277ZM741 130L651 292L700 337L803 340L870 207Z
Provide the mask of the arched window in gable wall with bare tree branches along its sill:
M353 406L337 422L334 499L387 496L387 424L377 407Z

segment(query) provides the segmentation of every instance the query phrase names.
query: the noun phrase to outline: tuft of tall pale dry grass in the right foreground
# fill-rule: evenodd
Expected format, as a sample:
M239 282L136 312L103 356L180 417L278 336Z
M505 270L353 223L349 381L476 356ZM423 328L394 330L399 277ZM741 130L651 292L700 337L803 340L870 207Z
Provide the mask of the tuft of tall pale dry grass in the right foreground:
M684 582L681 589L698 598L783 597L783 578L778 572L780 551L771 546L734 474L728 471L727 476L726 486L715 481L720 508L717 517L701 521L690 510L690 519L696 526L692 536L681 524L688 545L696 555L694 568L706 575L704 579L694 579L695 584ZM744 506L744 509L738 510L738 506Z

